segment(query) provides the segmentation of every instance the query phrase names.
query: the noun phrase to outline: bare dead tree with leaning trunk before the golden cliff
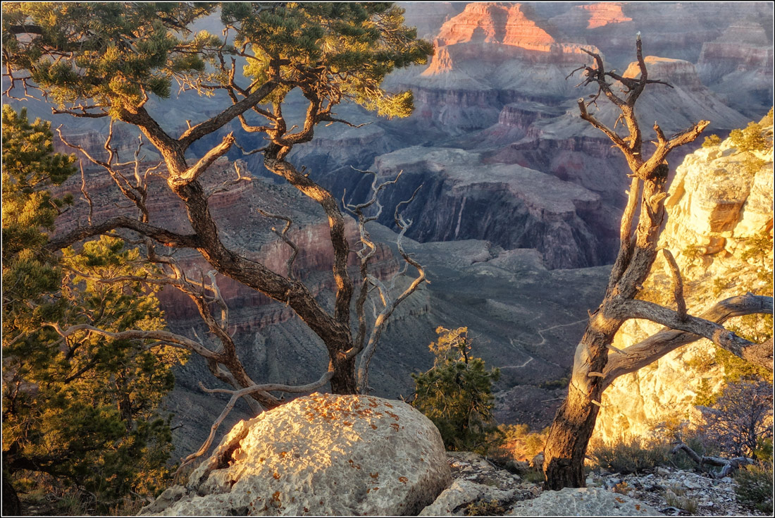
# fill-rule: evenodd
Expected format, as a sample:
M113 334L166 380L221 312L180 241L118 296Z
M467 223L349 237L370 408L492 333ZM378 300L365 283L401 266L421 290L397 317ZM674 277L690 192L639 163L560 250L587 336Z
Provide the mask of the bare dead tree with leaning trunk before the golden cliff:
M647 85L667 83L649 79L640 36L636 40L639 78L624 78L613 71L606 71L599 54L588 50L584 52L592 57L593 62L576 69L584 75L580 85L594 85L598 91L588 102L583 98L578 100L580 117L605 133L622 152L631 171L632 183L622 216L618 256L611 270L605 298L598 309L590 313L584 336L576 347L567 399L557 411L549 431L543 464L546 489L584 486L584 454L598 416L601 394L618 376L636 371L701 337L737 356L772 368L771 342L769 345L753 344L721 325L731 316L772 313L772 297L750 294L733 297L719 302L700 317L691 316L686 312L680 271L671 268L677 309L636 298L659 251L657 241L665 217L663 201L667 197L669 170L665 159L671 150L696 139L709 123L700 121L670 138L654 123L655 149L646 157L636 118L636 101ZM611 88L611 80L622 85L621 95ZM601 95L619 109L617 122L624 123L629 133L627 136L619 136L587 111ZM636 216L638 221L633 229ZM674 266L667 250L666 257L668 263ZM618 350L611 344L618 329L629 319L651 320L667 329L639 344Z

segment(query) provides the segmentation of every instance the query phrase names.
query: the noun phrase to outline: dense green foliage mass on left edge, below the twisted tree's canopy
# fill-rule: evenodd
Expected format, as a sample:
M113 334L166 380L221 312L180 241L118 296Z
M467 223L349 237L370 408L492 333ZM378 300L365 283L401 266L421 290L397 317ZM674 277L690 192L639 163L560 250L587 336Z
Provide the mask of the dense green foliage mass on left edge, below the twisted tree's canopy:
M105 505L130 491L156 492L171 451L169 422L157 407L182 357L87 330L60 337L52 326L158 329L156 290L71 273L143 275L133 264L136 250L117 238L64 257L47 253L43 230L57 203L46 188L74 172L73 159L53 154L47 123L30 125L7 107L2 122L4 469L16 479L84 489Z

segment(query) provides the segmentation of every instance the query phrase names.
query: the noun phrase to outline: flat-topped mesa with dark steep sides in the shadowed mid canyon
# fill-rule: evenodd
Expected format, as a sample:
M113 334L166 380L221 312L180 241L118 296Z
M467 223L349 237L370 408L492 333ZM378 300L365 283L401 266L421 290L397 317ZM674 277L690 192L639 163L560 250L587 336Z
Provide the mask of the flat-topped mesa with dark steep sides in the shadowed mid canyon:
M413 239L535 248L549 268L593 266L605 257L591 230L600 197L579 185L518 164L485 165L479 154L450 148L408 147L377 157L373 168L383 178L404 171L387 205L423 184L406 212L416 222Z

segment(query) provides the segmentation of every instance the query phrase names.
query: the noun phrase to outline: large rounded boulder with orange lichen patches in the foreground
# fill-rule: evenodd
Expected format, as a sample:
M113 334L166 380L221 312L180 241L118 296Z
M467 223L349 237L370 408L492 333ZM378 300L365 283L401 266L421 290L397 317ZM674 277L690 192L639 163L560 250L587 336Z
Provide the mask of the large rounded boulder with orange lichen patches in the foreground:
M238 423L141 514L416 515L450 482L439 430L412 406L315 393Z

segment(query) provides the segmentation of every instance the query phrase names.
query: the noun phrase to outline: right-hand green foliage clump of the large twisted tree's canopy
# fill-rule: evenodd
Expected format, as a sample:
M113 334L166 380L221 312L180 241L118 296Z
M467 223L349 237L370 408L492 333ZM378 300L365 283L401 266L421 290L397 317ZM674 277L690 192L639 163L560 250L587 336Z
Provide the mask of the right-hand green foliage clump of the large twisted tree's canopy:
M246 77L263 83L279 72L289 84L313 77L325 85L318 88L325 97L350 98L388 117L408 116L412 93L385 92L382 80L394 68L424 64L432 54L415 29L403 26L403 14L387 2L222 6L222 21L236 30L235 46L253 50ZM279 90L273 102L287 92Z

